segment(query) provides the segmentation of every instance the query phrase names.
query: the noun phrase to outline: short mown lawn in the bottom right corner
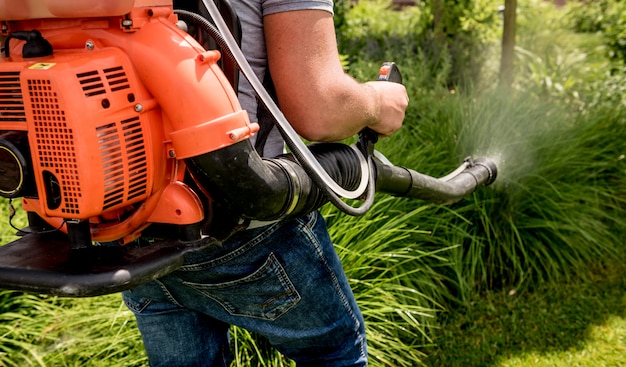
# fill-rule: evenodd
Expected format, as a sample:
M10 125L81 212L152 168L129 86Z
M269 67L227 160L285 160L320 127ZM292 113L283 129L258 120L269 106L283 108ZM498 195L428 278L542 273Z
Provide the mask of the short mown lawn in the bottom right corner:
M592 280L477 295L446 315L430 367L625 365L626 275L614 264Z

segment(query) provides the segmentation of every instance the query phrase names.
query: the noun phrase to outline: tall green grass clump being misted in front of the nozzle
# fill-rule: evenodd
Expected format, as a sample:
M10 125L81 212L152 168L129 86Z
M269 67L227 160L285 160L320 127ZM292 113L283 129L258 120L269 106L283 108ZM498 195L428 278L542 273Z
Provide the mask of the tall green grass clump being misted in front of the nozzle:
M589 264L615 258L626 198L623 121L502 91L457 93L434 109L411 128L418 141L442 142L432 150L454 151L457 161L486 156L498 165L492 187L432 207L421 222L459 245L450 252L452 296L585 277Z

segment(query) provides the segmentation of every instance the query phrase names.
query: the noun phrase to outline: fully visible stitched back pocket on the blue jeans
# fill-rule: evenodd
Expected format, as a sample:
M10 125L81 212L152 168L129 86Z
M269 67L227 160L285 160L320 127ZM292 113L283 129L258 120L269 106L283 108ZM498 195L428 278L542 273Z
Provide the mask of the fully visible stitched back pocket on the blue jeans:
M259 269L243 278L216 284L183 283L234 316L275 320L300 301L300 294L273 253Z

